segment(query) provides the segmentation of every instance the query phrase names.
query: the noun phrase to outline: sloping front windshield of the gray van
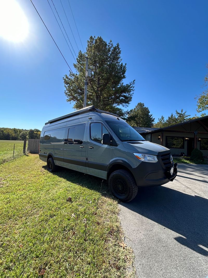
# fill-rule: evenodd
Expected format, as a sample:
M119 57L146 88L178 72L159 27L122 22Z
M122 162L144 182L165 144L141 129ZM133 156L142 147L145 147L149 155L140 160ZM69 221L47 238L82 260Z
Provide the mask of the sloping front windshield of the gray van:
M127 123L106 121L121 141L145 141L145 139Z

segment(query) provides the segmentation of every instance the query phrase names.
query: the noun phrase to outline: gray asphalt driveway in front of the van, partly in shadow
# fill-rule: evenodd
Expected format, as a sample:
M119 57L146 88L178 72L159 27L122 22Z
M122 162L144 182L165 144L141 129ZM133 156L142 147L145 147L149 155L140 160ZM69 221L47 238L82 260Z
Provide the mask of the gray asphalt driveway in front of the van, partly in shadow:
M137 277L208 278L208 165L179 164L173 182L120 209Z

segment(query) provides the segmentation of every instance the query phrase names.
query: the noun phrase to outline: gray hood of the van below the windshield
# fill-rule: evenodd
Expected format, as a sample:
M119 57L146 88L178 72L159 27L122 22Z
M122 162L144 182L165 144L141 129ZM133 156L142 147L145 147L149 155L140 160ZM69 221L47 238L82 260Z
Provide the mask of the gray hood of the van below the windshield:
M146 153L148 155L158 155L158 152L167 152L168 148L161 145L149 142L149 141L138 141L138 142L122 142L123 146L127 149L137 153Z

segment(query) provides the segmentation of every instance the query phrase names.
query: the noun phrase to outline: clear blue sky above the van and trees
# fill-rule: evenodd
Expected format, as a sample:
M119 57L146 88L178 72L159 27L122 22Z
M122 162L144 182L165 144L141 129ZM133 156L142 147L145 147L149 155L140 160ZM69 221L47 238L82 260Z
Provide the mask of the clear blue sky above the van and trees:
M0 127L42 129L49 119L74 111L66 101L62 79L69 68L31 2L17 2L27 17L29 34L21 43L0 37ZM47 0L33 2L73 69L72 54ZM68 0L62 3L81 49ZM54 4L78 52L60 0ZM127 64L125 82L136 80L128 109L143 102L156 120L181 108L195 115L194 98L203 91L207 73L207 1L70 0L70 4L84 48L91 35L120 44Z

